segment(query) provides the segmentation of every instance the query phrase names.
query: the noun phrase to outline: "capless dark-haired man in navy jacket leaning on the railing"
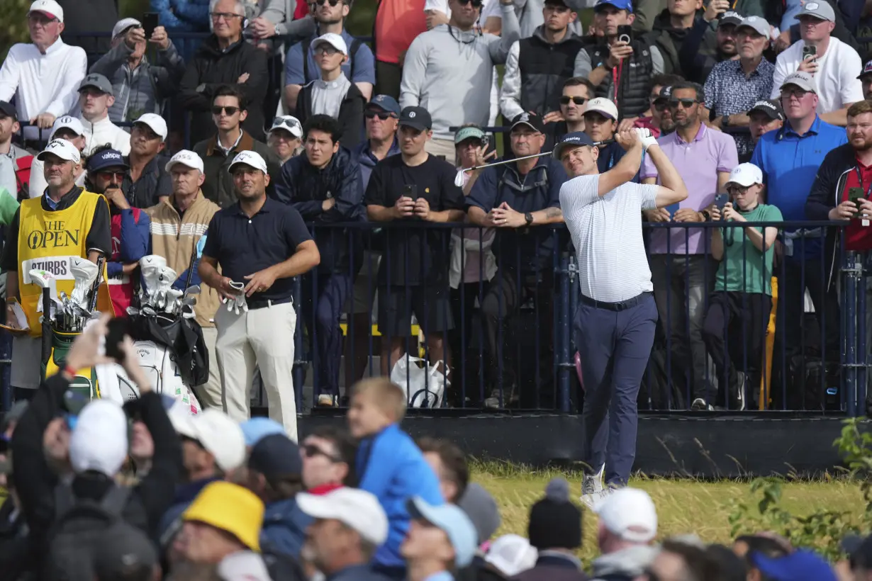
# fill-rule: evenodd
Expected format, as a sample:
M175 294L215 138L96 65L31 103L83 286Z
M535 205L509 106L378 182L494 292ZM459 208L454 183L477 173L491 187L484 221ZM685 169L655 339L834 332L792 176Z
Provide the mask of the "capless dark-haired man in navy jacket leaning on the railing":
M329 115L313 115L303 125L305 154L282 167L276 198L293 206L316 226L364 220L364 191L358 162L341 146L342 127ZM323 386L318 405L332 406L339 395L342 331L339 316L351 296L353 274L363 252L358 232L346 228L315 230L321 264L303 277L303 321L315 337L315 385Z

